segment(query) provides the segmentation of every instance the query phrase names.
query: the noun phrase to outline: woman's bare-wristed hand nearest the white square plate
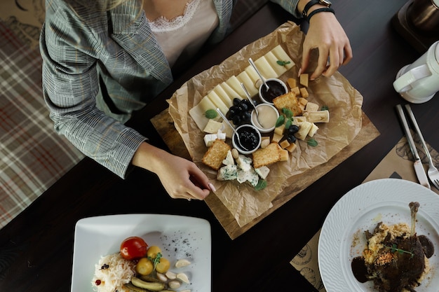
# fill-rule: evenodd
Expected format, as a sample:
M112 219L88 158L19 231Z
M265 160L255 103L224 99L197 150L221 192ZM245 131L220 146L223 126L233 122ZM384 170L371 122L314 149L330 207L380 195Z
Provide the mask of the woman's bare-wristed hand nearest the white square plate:
M133 165L157 174L163 187L174 199L204 200L215 190L208 177L194 162L142 143L133 157Z

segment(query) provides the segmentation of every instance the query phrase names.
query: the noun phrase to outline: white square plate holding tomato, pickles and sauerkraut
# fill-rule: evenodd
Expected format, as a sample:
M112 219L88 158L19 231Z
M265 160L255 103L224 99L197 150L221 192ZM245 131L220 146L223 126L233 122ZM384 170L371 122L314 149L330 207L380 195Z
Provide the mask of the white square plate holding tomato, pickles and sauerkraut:
M161 214L128 214L83 218L76 223L73 251L72 292L93 291L91 280L101 256L119 251L126 237L142 237L149 246L158 245L163 257L186 258L184 272L191 281L184 288L210 291L210 224L201 218ZM182 286L183 288L183 286Z

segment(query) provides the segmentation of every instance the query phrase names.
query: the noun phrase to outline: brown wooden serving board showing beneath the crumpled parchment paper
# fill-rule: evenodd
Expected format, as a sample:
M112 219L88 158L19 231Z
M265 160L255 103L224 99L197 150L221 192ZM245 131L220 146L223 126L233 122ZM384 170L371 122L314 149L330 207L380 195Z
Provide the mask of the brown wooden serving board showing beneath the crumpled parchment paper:
M151 123L154 125L158 134L160 134L163 141L173 154L191 160L182 137L174 127L173 118L171 118L170 114L168 113L168 109L162 111L157 116L152 118ZM227 207L222 204L215 194L210 194L208 197L206 197L205 202L208 204L208 207L212 210L213 214L215 214L215 217L219 223L221 223L224 230L226 230L229 237L231 237L231 239L235 239L239 235L242 235L245 231L252 228L259 221L262 221L263 218L271 214L273 211L276 211L276 209L285 204L285 202L288 202L288 200L290 200L292 197L295 197L295 195L310 186L311 183L320 179L320 177L327 172L330 172L331 169L335 168L341 162L346 160L346 158L349 158L351 155L353 155L353 153L356 153L378 136L379 131L363 112L361 130L356 138L353 139L351 144L343 148L342 151L337 153L337 155L332 157L325 164L314 167L313 169L309 169L303 174L299 174L297 176L297 183L285 188L285 190L283 190L283 192L280 193L275 200L273 200L273 207L242 227L238 225L234 216L227 209Z

